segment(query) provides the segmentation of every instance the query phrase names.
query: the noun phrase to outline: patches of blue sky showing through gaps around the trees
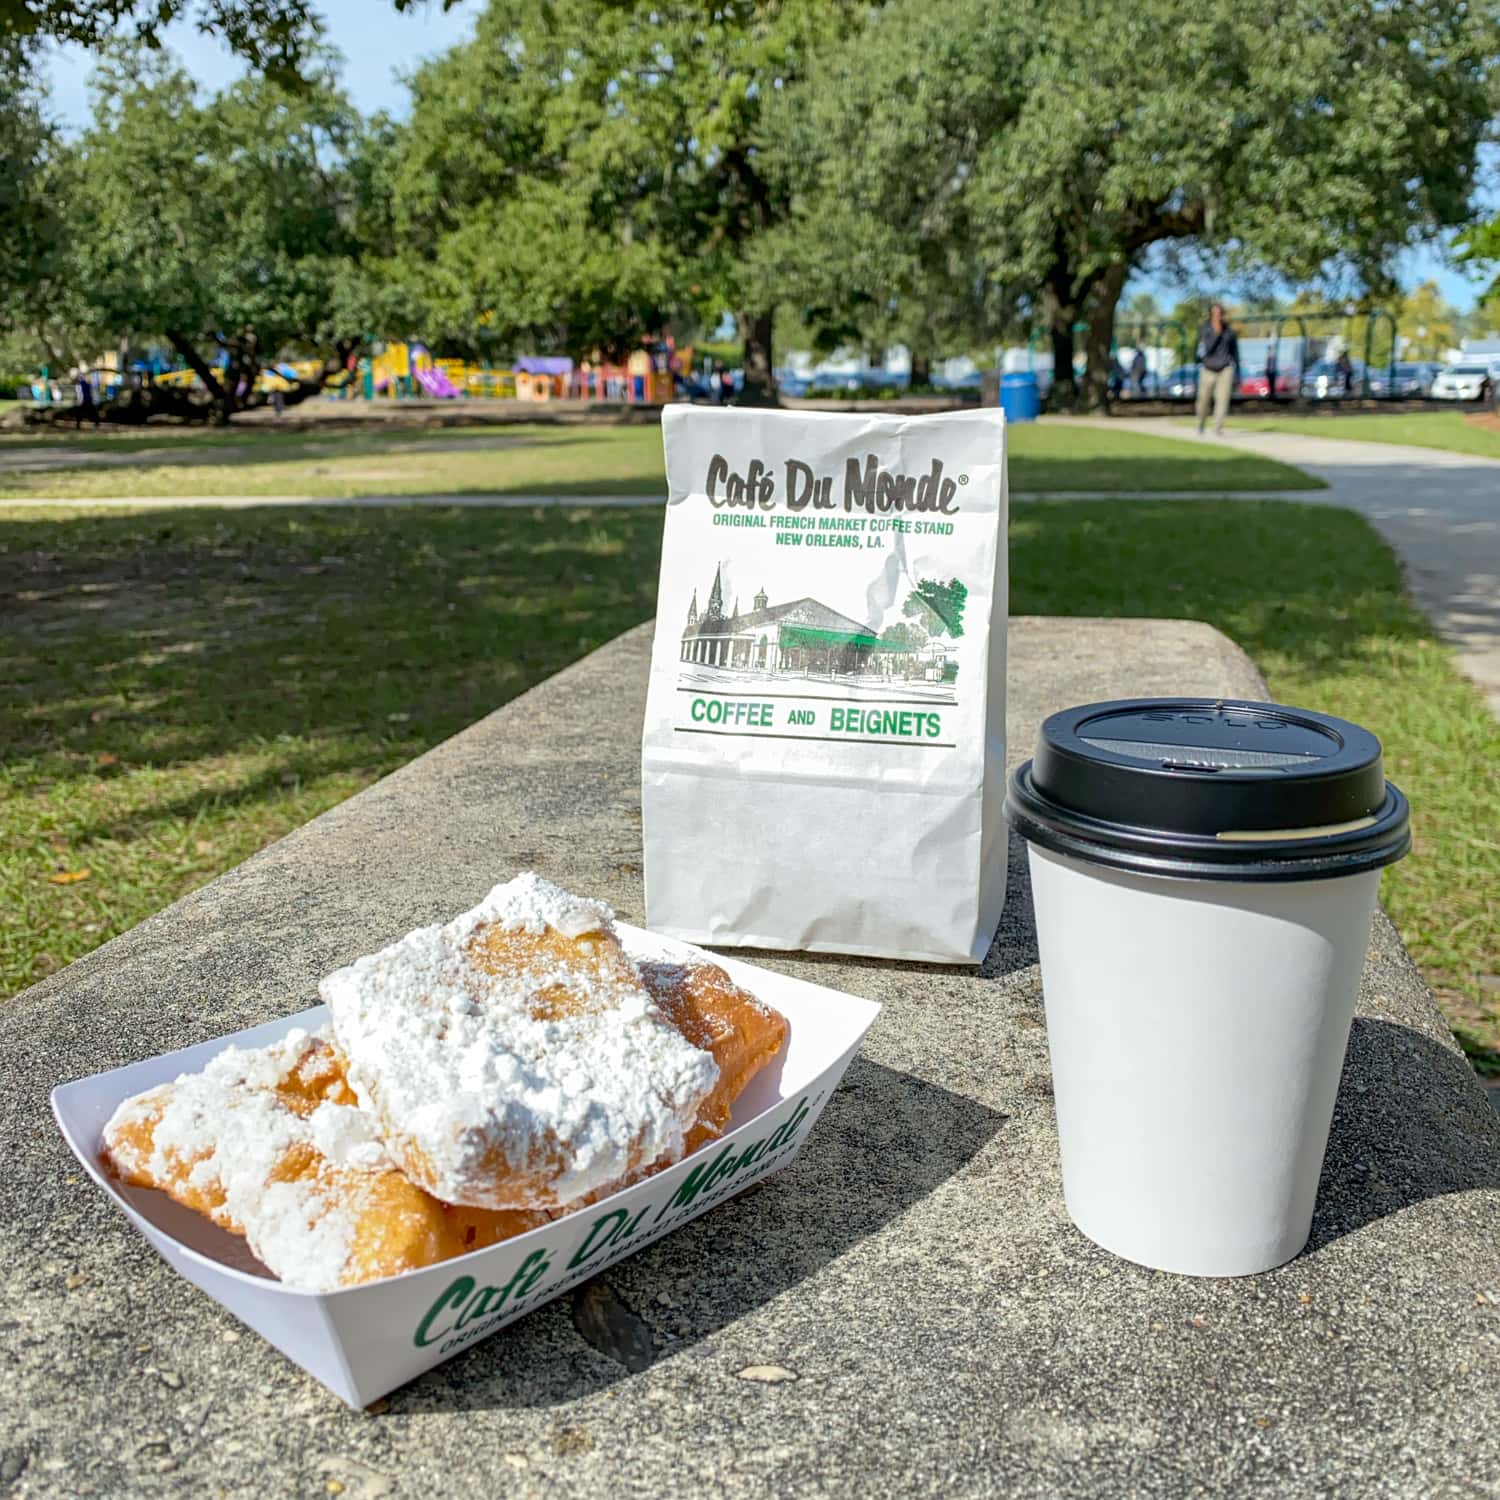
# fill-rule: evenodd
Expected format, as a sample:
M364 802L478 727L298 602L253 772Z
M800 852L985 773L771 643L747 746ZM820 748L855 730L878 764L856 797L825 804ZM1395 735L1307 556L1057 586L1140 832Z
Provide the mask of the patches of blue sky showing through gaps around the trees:
M387 110L404 116L410 96L400 82L423 58L446 51L472 34L474 18L483 0L459 0L444 10L441 0L429 0L416 10L398 14L390 0L322 0L326 34L344 54L344 81L354 104L366 114ZM200 36L190 26L174 26L168 45L182 57L188 70L207 88L218 88L240 74L240 64L212 38ZM70 129L88 118L88 54L81 48L54 48L46 60L54 114ZM1482 200L1500 212L1500 152L1486 153ZM1401 282L1414 286L1436 280L1443 296L1467 312L1490 276L1468 276L1444 262L1437 248L1407 252L1401 261ZM1233 286L1138 273L1130 291L1150 291L1161 302L1173 303L1191 291L1234 294Z

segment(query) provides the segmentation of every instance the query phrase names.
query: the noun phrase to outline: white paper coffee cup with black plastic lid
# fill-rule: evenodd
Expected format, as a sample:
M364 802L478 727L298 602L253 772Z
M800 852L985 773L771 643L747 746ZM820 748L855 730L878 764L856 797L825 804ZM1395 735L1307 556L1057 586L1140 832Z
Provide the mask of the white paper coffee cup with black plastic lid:
M1042 726L1008 812L1030 843L1072 1221L1161 1270L1290 1260L1380 867L1410 843L1378 741L1268 704L1088 705Z

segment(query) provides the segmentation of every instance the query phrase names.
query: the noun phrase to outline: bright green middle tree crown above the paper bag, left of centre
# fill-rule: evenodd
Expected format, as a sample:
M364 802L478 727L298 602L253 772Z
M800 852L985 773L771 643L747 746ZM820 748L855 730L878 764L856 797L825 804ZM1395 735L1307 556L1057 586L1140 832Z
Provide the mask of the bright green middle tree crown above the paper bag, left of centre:
M621 352L678 306L735 310L768 376L774 302L747 246L784 210L765 100L858 0L492 0L420 69L388 164L390 273L446 338Z

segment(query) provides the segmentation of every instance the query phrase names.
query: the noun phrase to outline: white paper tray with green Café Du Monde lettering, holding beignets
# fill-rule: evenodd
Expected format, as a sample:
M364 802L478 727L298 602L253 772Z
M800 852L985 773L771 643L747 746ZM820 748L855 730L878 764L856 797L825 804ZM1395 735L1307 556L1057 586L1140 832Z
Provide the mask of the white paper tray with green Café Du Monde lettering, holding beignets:
M636 957L700 951L624 922L616 930ZM243 1239L162 1192L124 1186L99 1156L105 1122L122 1100L196 1072L228 1046L262 1047L294 1026L321 1026L324 1006L60 1084L52 1090L52 1112L84 1170L168 1264L334 1395L362 1407L778 1172L796 1155L879 1005L735 958L710 957L789 1023L780 1058L738 1098L718 1142L555 1224L366 1286L327 1293L282 1286L254 1260Z

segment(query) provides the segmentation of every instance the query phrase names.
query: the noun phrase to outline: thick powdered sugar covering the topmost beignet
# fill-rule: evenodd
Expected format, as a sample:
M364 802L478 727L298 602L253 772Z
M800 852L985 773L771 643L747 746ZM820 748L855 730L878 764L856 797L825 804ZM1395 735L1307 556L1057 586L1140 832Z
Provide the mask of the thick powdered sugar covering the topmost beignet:
M472 945L490 926L600 938L572 954L534 945L524 970L489 972ZM618 957L609 908L536 874L321 992L360 1102L406 1172L452 1203L564 1208L675 1160L718 1076Z

